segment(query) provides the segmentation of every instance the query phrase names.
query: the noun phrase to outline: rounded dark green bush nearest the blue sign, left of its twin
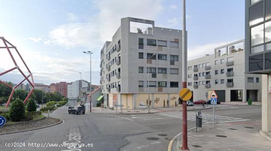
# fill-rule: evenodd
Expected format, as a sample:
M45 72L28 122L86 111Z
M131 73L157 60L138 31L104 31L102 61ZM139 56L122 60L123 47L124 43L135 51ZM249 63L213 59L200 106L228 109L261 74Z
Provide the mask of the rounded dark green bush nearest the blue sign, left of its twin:
M11 103L9 117L11 121L20 121L25 118L25 105L19 98L16 98L16 100Z

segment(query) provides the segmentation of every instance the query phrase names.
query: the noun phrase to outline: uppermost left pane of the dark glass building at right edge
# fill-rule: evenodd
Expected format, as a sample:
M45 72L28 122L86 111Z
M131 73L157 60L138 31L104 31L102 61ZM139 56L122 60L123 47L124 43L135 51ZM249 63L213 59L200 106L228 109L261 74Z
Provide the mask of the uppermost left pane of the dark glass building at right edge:
M268 0L266 0L268 1ZM249 26L264 21L264 2L260 2L249 8Z

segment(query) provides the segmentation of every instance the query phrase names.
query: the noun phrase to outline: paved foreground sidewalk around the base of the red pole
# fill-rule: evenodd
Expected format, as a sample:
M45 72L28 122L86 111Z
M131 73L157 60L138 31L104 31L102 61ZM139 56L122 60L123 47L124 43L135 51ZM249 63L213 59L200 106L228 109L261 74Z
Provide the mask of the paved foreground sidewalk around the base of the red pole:
M271 151L271 141L259 134L260 124L245 121L217 124L215 128L205 125L198 132L188 131L188 148L190 151ZM181 137L174 141L172 151L180 151Z

